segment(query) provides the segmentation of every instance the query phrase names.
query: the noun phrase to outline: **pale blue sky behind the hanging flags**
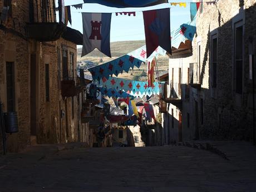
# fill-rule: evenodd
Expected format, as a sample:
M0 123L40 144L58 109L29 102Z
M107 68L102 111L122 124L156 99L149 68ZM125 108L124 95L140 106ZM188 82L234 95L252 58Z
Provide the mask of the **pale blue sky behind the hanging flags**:
M138 0L139 1L139 0ZM192 2L191 0L169 0L169 2ZM83 3L83 0L65 0L65 6L71 4ZM142 12L149 9L171 8L171 31L178 28L181 24L190 21L190 6L187 4L186 8L180 6L171 6L169 3L160 4L157 6L146 8L111 8L101 6L100 4L83 4L83 9L76 9L71 6L72 26L68 26L82 32L82 15L81 12L129 12L137 11L136 16L116 16L112 14L111 19L111 33L110 41L131 41L131 40L145 40L144 23Z

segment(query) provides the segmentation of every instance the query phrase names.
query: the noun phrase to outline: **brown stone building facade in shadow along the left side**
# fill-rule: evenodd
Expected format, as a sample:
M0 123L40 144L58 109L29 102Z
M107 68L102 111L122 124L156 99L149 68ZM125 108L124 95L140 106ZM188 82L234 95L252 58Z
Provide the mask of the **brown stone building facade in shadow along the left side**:
M82 95L63 96L61 90L63 59L68 78L77 85L76 42L61 38L65 25L56 22L55 2L48 1L48 9L37 2L0 1L1 14L9 6L8 16L1 17L0 24L0 101L3 112L17 112L19 128L7 135L9 152L35 143L80 139ZM42 14L36 10L43 10ZM33 33L35 23L41 33ZM56 30L59 37L51 37L51 30L43 31L42 23L60 28ZM48 37L43 36L49 32ZM2 151L2 132L0 141Z

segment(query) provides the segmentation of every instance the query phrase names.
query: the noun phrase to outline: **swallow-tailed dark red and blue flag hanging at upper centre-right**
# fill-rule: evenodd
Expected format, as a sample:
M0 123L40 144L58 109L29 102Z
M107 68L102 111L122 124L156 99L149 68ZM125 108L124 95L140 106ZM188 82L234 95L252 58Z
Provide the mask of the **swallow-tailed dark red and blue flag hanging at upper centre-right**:
M170 8L143 12L146 37L146 58L158 46L171 54Z

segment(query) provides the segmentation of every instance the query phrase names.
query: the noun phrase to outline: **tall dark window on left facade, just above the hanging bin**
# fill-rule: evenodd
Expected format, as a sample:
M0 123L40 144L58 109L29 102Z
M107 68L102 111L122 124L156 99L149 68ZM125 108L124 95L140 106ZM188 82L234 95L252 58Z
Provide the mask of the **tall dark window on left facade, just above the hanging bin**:
M6 62L7 111L16 111L14 62Z

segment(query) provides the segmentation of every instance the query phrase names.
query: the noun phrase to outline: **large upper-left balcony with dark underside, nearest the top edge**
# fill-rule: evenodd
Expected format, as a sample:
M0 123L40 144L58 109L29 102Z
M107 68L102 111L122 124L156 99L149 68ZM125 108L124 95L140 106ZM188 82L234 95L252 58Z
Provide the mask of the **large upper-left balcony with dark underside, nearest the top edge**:
M29 23L26 24L28 38L41 42L56 41L65 28L64 23L56 21L55 1L29 0Z

